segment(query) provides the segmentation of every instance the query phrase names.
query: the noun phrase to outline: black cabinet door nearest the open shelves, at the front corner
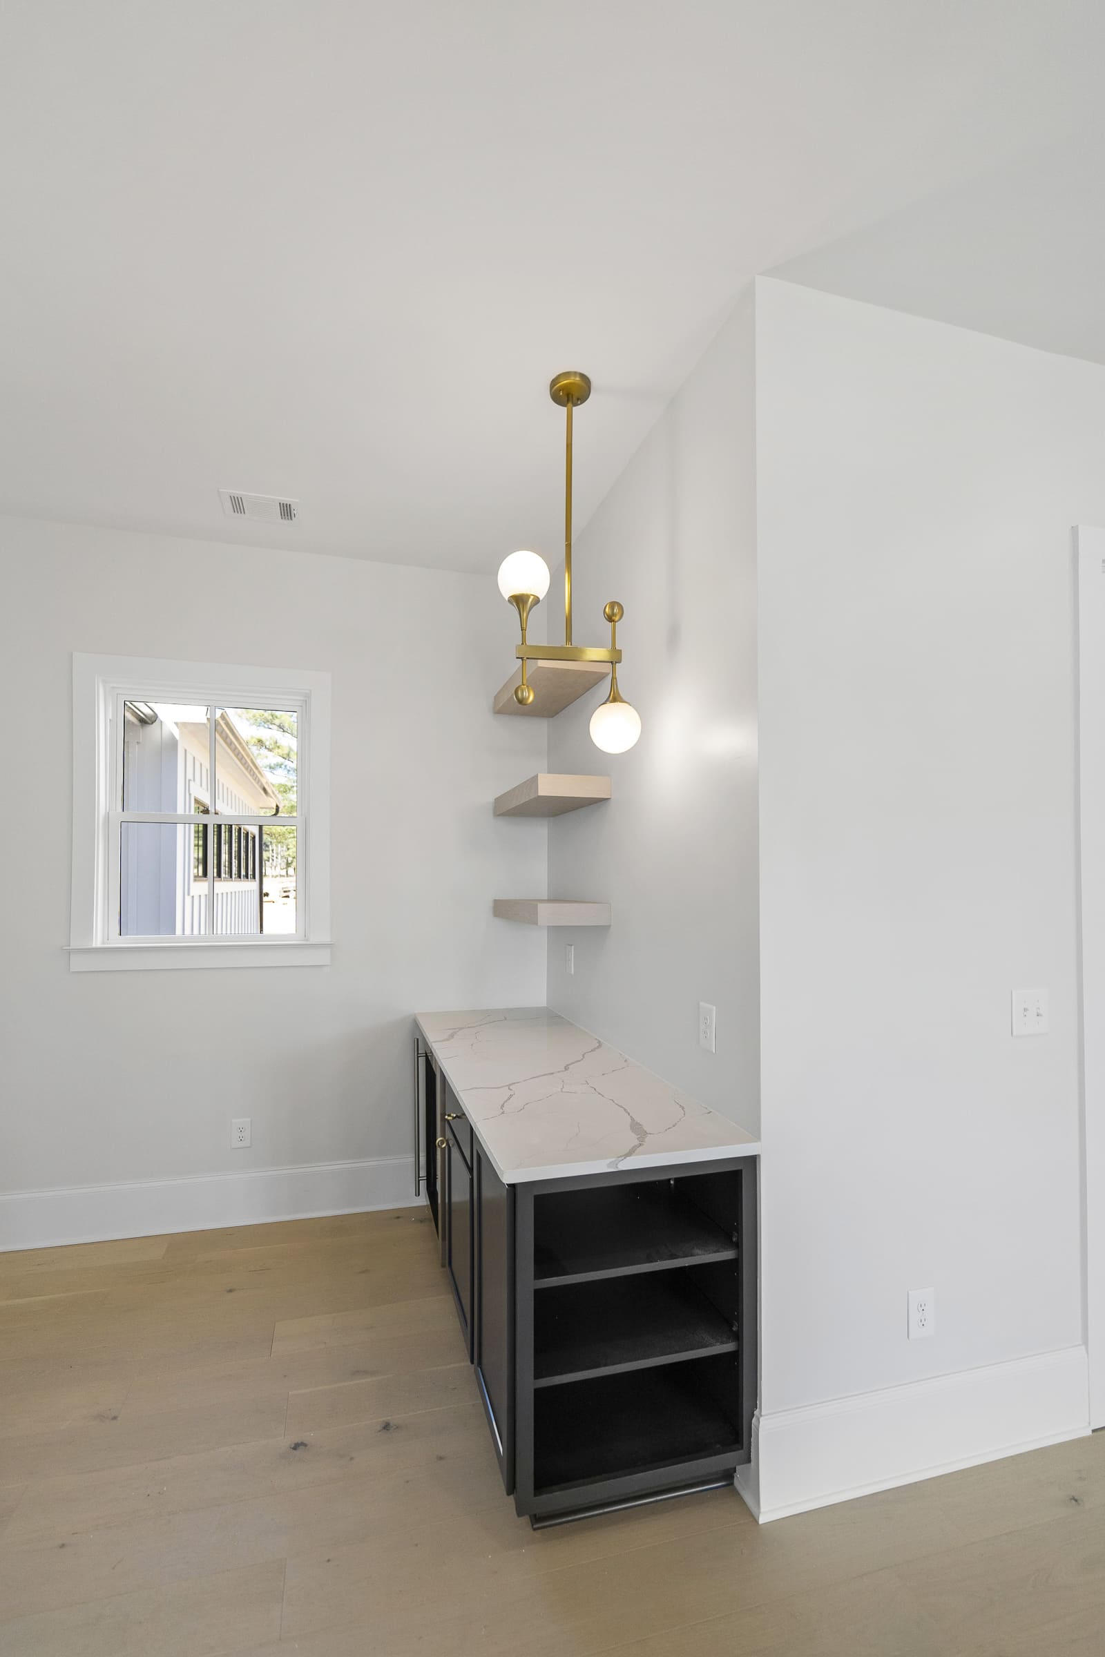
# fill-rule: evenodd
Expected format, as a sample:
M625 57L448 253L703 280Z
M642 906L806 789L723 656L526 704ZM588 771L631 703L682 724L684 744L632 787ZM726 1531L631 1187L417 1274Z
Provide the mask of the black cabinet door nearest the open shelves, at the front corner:
M514 1495L514 1191L475 1148L475 1375L507 1495Z

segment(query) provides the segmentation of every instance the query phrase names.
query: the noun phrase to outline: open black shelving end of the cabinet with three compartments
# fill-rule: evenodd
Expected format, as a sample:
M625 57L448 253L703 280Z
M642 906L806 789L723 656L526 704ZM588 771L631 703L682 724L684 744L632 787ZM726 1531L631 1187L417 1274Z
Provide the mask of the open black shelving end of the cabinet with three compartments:
M752 1162L515 1190L515 1501L726 1481L755 1399Z

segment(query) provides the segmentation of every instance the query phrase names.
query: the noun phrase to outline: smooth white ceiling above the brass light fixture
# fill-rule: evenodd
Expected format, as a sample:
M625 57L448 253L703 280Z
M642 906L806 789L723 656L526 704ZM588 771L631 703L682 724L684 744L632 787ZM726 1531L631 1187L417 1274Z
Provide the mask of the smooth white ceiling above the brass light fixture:
M755 272L1016 200L1103 43L1100 0L8 0L0 510L555 555L555 370L585 522Z

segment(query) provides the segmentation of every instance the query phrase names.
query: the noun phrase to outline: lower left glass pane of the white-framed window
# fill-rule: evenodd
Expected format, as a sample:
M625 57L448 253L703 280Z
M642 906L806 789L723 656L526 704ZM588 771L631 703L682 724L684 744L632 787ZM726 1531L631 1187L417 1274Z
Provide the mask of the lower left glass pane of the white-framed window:
M123 938L191 938L207 918L207 827L123 824L119 835L119 933Z

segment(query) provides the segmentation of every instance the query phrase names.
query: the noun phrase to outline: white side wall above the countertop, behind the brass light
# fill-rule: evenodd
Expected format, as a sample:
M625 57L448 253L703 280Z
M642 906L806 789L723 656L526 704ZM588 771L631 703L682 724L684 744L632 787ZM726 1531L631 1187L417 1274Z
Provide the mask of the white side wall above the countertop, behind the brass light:
M752 345L749 293L578 539L575 638L605 643L603 605L621 600L618 683L644 729L600 752L586 726L605 691L550 726L548 769L610 772L613 799L552 820L548 891L610 898L613 926L548 935L548 1001L755 1132ZM717 1007L716 1054L699 1001Z

